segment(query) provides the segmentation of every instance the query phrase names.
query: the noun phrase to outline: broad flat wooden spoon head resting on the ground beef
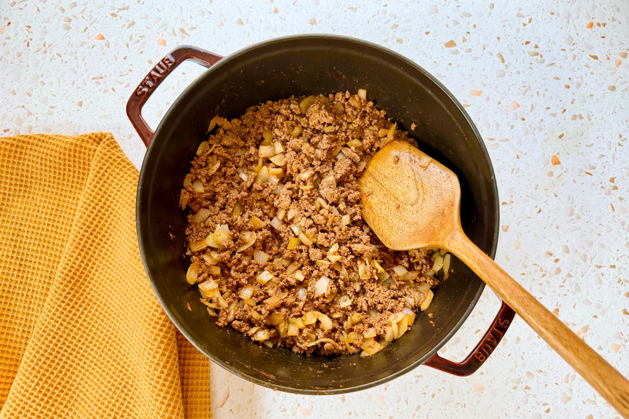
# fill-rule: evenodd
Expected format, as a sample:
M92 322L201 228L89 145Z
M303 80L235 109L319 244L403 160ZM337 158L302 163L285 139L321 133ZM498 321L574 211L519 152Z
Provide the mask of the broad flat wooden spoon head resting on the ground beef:
M358 179L362 216L393 250L438 247L460 229L459 178L409 143L394 140Z

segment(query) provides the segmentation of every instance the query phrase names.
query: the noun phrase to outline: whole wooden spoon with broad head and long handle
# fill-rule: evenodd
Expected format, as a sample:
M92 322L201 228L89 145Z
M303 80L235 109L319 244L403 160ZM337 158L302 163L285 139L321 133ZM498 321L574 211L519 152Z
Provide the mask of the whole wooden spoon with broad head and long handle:
M629 381L465 236L459 179L418 148L394 140L358 180L362 216L393 250L446 249L481 277L626 419Z

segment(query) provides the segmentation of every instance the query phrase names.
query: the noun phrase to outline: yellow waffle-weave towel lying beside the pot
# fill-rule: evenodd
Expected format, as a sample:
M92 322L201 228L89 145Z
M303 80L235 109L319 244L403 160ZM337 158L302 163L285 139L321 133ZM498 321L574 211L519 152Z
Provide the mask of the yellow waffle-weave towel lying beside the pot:
M211 418L148 282L110 133L0 138L0 418Z

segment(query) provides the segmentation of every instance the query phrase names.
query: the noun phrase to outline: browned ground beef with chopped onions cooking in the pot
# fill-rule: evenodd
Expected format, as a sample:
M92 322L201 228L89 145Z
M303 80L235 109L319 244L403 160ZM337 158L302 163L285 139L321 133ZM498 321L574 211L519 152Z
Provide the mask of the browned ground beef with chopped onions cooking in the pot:
M450 256L389 250L362 220L357 177L394 138L416 145L364 91L213 118L180 205L187 280L218 326L301 354L370 355L412 325Z

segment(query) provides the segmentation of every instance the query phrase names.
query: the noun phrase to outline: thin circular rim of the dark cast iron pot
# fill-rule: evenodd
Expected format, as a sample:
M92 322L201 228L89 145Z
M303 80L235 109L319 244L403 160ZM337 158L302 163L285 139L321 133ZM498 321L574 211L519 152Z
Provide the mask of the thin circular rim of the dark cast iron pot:
M173 111L173 109L175 109L177 107L177 105L183 100L184 96L186 96L186 94L189 91L191 91L192 89L196 89L196 87L198 87L198 85L203 81L203 79L210 72L212 72L215 68L221 67L223 65L228 65L228 64L230 64L231 60L233 60L233 59L237 58L238 56L242 55L243 53L249 52L250 50L253 50L255 48L259 48L259 47L262 47L264 45L270 45L270 44L273 44L273 43L285 42L287 40L298 40L298 39L304 39L304 38L337 39L337 40L342 40L342 41L345 41L345 42L352 42L352 43L366 45L367 47L376 48L378 50L381 50L382 52L386 52L389 55L392 55L392 57L394 57L396 59L403 60L407 64L413 66L416 70L420 71L426 77L428 77L440 89L442 89L442 91L448 96L448 98L450 98L450 100L455 104L455 106L457 106L457 108L462 113L462 115L464 115L465 120L467 120L467 123L469 123L469 125L472 127L472 131L474 131L474 134L476 135L476 138L477 138L478 142L481 145L482 154L485 157L485 160L486 160L487 164L489 164L489 170L491 172L491 180L492 180L492 184L493 184L493 187L494 187L494 203L493 204L494 204L494 208L496 208L496 214L495 214L496 215L496 225L494 225L493 242L492 242L492 245L491 245L491 250L489 251L488 255L489 255L489 257L491 257L491 259L494 259L495 255L496 255L496 249L498 247L498 234L499 234L499 225L500 225L500 222L499 222L500 214L499 214L498 184L496 183L496 176L494 174L494 167L491 164L491 159L489 157L489 152L487 152L487 148L485 147L485 143L482 140L481 134L479 133L478 129L476 128L476 125L474 124L474 121L472 121L472 118L470 118L470 116L468 115L467 111L465 111L465 108L462 106L462 104L460 104L460 102L457 100L457 98L455 98L454 94L452 94L452 92L450 92L447 89L447 87L445 87L442 84L442 82L440 82L434 75L432 75L430 72L428 72L425 69L423 69L423 67L421 67L420 65L416 64L412 60L404 57L404 55L401 55L398 52L394 52L393 50L390 50L389 48L382 47L381 45L377 45L376 43L365 41L365 40L362 40L362 39L359 39L359 38L353 38L351 36L343 36L343 35L330 35L330 34L324 34L324 33L321 33L321 34L318 34L318 33L314 33L314 34L298 34L298 35L281 36L281 37L278 37L278 38L272 38L272 39L265 40L265 41L262 41L262 42L254 43L252 45L249 45L248 47L245 47L245 48L242 48L240 50L237 50L237 51L231 53L230 55L227 55L225 58L221 59L218 63L214 64L208 70L203 72L203 74L199 75L199 77L197 77L191 84L189 84L188 87L186 87L186 89L184 89L184 91L181 92L181 94L179 94L177 99L175 99L175 101L172 103L172 105L170 105L170 108L167 109L167 111L165 111L164 116L162 117L162 120L160 121L159 125L155 129L155 133L153 134L153 140L151 141L150 145L148 146L147 152L145 153L144 158L142 160L142 167L140 169L140 176L138 177L138 190L137 190L137 194L136 194L136 213L135 213L135 217L136 217L136 232L137 232L137 236L138 236L138 247L140 248L140 255L142 256L142 263L144 265L145 271L147 272L148 282L150 282L151 287L153 288L153 293L155 293L155 296L159 300L163 310L165 311L167 316L169 316L170 321L172 321L172 323L179 330L179 332L181 332L182 335L184 335L184 337L186 337L186 339L192 345L194 345L194 347L196 347L196 349L199 350L199 352L201 352L202 354L206 355L206 357L208 357L213 362L215 362L216 364L218 364L221 367L223 367L223 369L226 369L227 371L231 372L232 374L235 374L236 376L238 376L238 377L240 377L242 379L245 379L245 380L250 381L250 382L255 383L255 384L259 384L260 386L264 386L266 388L279 390L279 391L285 391L287 393L295 393L295 394L308 394L308 395L344 394L344 393L352 393L354 391L360 391L360 390L372 388L372 387L379 386L381 384L387 383L388 381L391 381L394 378L397 378L399 376L403 376L407 372L412 371L416 367L418 367L421 364L424 364L426 361L428 361L434 354L437 353L437 351L439 349L441 349L443 347L443 345L445 345L454 336L454 334L463 325L465 320L467 320L467 318L469 317L469 315L472 312L472 310L474 310L474 307L476 307L476 304L478 303L479 298L481 298L481 294L482 294L482 292L484 291L484 288L485 288L485 283L482 282L479 290L476 293L476 296L474 296L474 299L472 300L472 303L469 305L467 310L465 310L465 313L460 318L460 320L457 321L455 327L452 328L452 330L450 330L450 332L448 332L447 335L437 345L435 345L435 347L433 349L431 349L426 355L424 355L420 359L416 360L412 364L409 364L409 366L406 366L403 369L401 369L401 370L399 370L397 372L394 372L393 374L389 374L386 377L382 377L381 379L377 379L375 381L371 381L370 383L360 384L360 385L357 385L357 386L352 386L352 387L347 387L347 388L335 388L335 389L296 389L296 388L291 388L291 387L287 387L287 386L277 385L277 384L274 384L274 383L269 383L268 381L262 381L260 379L255 378L255 377L248 376L244 372L239 371L238 369L235 369L230 364L227 364L224 360L218 359L218 358L214 357L214 355L208 354L203 349L201 349L201 347L195 342L194 338L191 337L190 333L188 333L187 330L182 326L181 322L177 319L177 316L175 316L174 313L172 313L172 311L170 310L169 306L165 303L164 299L162 298L162 295L159 293L158 289L155 287L155 284L153 283L153 280L152 280L152 278L150 276L150 273L149 273L150 271L148 270L148 264L147 264L147 260L146 260L146 257L145 257L145 249L144 249L144 246L143 246L143 243L142 243L142 225L140 223L140 216L142 215L142 200L140 199L140 197L142 195L142 184L144 182L144 176L146 174L146 170L145 169L146 169L146 166L147 166L148 157L150 156L150 153L152 152L152 150L154 148L153 146L155 145L155 143L157 141L157 137L159 137L160 131L162 130L162 128L164 126L164 121L168 119L168 117L169 117L170 113Z

